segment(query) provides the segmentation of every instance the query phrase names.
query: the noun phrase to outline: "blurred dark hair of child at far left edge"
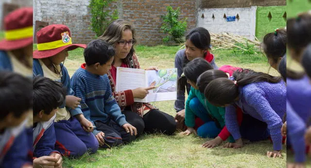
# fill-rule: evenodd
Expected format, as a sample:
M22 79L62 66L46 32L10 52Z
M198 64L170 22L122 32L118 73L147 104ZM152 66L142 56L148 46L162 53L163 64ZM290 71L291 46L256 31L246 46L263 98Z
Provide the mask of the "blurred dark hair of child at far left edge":
M33 86L30 78L14 72L0 71L0 120L10 112L20 117L33 107Z

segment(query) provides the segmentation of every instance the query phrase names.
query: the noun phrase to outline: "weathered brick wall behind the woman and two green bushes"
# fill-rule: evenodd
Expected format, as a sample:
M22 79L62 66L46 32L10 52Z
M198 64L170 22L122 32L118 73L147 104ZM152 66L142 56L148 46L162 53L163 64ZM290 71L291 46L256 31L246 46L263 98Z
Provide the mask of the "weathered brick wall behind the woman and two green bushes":
M65 24L72 31L74 43L87 44L95 38L89 29L89 0L34 0L35 20L49 24ZM180 7L179 18L187 17L188 30L196 26L196 0L118 0L108 10L118 9L119 18L130 21L137 31L138 43L162 44L161 15L166 7Z

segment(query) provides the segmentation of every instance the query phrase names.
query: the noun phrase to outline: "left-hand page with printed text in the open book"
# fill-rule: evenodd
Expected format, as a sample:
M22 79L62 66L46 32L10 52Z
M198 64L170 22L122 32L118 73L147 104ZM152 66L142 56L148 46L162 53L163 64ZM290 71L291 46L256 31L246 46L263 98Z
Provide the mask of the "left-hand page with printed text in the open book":
M146 81L145 70L117 67L116 92L146 87ZM134 98L134 101L147 103L146 98Z

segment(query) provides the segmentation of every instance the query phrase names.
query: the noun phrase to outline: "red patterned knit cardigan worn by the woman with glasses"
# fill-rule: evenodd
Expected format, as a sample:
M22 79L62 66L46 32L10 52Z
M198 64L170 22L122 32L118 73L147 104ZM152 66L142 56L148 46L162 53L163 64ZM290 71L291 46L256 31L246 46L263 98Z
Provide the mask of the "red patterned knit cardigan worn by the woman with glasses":
M135 53L133 54L132 57L125 58L124 62L127 64L129 68L140 69L138 58ZM136 112L138 113L138 115L143 117L143 115L149 112L151 109L157 109L156 107L154 107L153 105L149 103L134 102L132 90L116 92L116 83L113 80L110 71L108 71L107 75L110 81L112 94L115 97L118 105L121 107L122 111L124 110L125 107L130 106L133 112Z

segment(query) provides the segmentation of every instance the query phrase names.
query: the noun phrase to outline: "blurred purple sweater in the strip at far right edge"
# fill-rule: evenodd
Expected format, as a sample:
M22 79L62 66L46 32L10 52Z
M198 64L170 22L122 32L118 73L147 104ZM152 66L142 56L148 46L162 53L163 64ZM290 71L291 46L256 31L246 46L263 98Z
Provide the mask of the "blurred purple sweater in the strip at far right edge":
M308 76L298 80L287 78L287 100L287 130L295 161L305 162L304 134L311 118L311 83Z

